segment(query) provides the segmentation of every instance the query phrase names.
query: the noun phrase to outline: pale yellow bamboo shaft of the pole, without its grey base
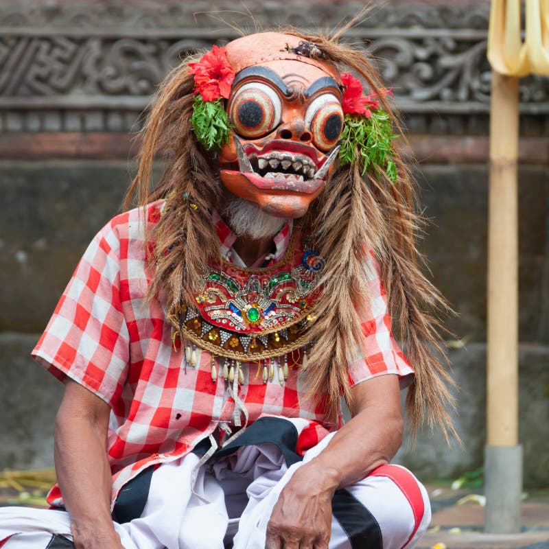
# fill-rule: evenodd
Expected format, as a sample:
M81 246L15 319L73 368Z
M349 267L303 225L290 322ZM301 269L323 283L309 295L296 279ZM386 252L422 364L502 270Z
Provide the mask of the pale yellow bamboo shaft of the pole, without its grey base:
M517 444L518 78L493 73L488 248L489 445Z

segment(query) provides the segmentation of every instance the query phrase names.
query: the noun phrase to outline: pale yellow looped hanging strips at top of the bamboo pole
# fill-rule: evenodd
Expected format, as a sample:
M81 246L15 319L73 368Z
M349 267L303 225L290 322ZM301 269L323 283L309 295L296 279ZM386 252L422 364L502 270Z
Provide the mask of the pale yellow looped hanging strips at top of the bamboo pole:
M520 27L520 0L492 0L488 60L509 76L549 75L549 0L526 0L526 39Z

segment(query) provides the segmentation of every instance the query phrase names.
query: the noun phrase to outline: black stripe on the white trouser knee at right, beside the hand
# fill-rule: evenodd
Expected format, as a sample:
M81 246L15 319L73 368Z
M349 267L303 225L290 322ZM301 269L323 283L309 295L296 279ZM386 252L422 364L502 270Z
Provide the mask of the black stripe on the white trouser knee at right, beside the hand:
M382 531L372 513L347 490L336 490L331 511L347 533L353 549L383 549Z

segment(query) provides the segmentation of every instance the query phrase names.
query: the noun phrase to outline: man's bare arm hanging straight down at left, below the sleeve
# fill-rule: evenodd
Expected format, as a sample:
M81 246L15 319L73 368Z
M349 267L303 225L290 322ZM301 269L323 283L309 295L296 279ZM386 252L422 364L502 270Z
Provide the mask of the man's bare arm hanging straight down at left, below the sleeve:
M76 549L122 547L110 517L109 414L100 397L72 380L66 382L56 417L55 462Z

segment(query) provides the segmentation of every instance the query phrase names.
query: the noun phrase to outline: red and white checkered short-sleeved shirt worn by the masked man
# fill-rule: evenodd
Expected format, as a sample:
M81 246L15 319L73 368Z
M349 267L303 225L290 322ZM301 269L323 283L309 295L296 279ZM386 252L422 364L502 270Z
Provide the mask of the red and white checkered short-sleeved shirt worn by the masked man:
M160 208L161 202L147 208L150 227L158 222ZM219 216L215 226L228 251L233 233ZM274 238L281 244L271 263L283 255L291 229L286 224ZM349 379L357 384L395 373L406 385L412 369L390 333L374 261L367 271L371 315L364 318L364 341L349 364ZM183 456L218 427L231 425L235 408L222 376L212 382L207 351L199 350L196 367L185 371L182 353L172 345L166 304L145 299L148 283L143 222L135 209L117 215L93 239L32 351L58 379L74 379L110 406L113 502L121 487L146 467ZM301 360L301 353L294 351L289 365ZM283 384L264 384L256 363L244 364L243 371L238 397L248 424L264 414L301 417L318 425L318 439L337 428L326 421L322 406L304 399L306 371L290 367ZM58 487L50 491L48 502L62 503Z

